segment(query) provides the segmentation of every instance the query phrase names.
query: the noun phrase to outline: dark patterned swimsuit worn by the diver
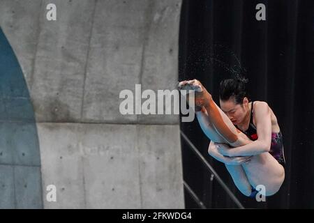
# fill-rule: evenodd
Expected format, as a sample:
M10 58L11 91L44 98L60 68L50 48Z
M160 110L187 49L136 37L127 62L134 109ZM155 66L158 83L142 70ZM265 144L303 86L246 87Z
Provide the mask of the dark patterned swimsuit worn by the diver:
M252 102L252 109L251 109L251 118L250 123L248 125L248 129L246 131L240 130L237 125L238 130L246 134L246 136L255 141L257 139L257 131L256 127L253 124L253 103ZM283 134L281 132L275 133L271 132L271 148L269 153L283 166L285 167L285 155L283 153Z

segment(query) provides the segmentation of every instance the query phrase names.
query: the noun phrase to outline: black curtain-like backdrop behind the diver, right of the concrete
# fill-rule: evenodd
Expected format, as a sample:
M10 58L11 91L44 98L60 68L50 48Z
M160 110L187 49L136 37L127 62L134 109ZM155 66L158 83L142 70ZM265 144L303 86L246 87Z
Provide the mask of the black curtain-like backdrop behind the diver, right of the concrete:
M266 21L257 21L257 3ZM183 130L246 208L314 208L314 1L183 0L179 81L199 79L218 103L218 84L246 75L251 100L273 109L285 149L285 182L267 202L248 199L224 164L207 154L209 139L193 123ZM182 142L184 180L207 208L236 208L200 160ZM186 208L199 208L185 192Z

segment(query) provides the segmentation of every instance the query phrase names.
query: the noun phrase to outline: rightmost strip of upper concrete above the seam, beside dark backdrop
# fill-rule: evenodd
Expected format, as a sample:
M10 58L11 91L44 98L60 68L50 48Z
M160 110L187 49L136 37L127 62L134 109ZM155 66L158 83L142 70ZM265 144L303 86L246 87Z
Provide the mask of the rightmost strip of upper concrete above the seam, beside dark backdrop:
M162 0L154 1L150 13L147 14L148 26L145 32L141 74L142 89L152 89L156 92L158 89L170 91L177 89L180 10L181 1ZM179 116L140 115L138 121L178 123Z

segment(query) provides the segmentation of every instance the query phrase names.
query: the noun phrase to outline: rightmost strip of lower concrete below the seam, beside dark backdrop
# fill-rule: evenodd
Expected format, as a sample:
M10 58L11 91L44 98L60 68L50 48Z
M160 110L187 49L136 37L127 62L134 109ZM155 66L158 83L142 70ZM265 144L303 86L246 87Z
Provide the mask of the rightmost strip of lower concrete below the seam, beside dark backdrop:
M138 125L137 136L142 208L184 208L179 126Z

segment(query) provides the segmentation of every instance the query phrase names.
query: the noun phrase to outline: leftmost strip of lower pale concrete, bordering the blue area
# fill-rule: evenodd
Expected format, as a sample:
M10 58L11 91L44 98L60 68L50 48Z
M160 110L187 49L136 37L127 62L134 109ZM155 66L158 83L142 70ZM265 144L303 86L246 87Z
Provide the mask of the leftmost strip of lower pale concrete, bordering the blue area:
M49 202L44 197L45 208L84 208L84 174L77 146L80 140L77 125L38 123L38 138L43 188L57 187L57 202Z

